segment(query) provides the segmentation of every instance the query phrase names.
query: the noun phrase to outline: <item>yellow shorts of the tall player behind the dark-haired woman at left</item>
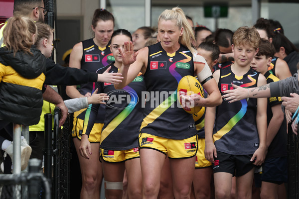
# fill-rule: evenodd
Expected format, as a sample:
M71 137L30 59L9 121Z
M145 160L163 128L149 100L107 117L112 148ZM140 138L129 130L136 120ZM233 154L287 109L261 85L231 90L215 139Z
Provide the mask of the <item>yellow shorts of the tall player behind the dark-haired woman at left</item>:
M86 109L86 108L85 108ZM77 137L81 139L81 135L83 132L83 119L77 118L77 116L83 112L85 109L81 109L79 111L74 112L74 121L73 121L73 130L72 137ZM104 124L103 123L95 123L90 134L89 134L89 142L100 142L101 141L101 132Z

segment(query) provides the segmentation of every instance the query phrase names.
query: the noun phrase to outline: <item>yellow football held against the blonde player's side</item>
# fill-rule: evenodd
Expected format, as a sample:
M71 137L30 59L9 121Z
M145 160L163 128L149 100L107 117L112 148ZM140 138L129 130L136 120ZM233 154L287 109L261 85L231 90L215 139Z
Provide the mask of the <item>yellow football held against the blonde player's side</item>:
M198 94L202 98L204 98L204 92L201 84L193 76L188 75L183 77L179 81L177 86L177 98L182 108L190 114L195 114L199 112L202 106L194 106L194 102L186 103L184 100L180 98L180 96L190 96L193 94Z

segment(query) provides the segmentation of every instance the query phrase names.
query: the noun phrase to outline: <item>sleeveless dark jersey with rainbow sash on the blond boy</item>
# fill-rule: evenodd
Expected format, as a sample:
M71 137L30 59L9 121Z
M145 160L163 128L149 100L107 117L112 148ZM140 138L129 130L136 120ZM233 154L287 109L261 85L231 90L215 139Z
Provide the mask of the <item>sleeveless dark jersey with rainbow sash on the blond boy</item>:
M244 88L257 87L259 72L249 69L241 77L235 75L231 67L220 69L218 83L221 94L225 90L234 89L231 83ZM233 155L253 154L259 147L259 135L256 124L257 99L250 98L228 103L223 102L216 107L216 120L213 139L217 151Z

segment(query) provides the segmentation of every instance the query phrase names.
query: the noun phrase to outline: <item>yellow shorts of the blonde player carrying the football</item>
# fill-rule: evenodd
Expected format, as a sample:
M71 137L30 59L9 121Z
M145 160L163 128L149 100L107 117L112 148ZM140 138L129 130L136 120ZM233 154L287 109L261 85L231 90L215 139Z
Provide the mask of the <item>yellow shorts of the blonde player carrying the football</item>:
M169 158L191 158L197 151L197 135L183 140L174 140L140 133L139 147L160 151Z

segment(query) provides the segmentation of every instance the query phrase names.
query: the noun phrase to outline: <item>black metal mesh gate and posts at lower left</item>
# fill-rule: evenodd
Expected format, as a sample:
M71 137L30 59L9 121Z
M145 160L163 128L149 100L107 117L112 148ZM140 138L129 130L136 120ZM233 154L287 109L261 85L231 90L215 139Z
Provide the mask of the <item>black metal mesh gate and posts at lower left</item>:
M70 122L69 117L59 128L59 108L54 110L52 142L52 115L45 114L45 176L52 182L53 199L70 198ZM52 147L53 143L53 147ZM52 179L53 156L53 179Z

